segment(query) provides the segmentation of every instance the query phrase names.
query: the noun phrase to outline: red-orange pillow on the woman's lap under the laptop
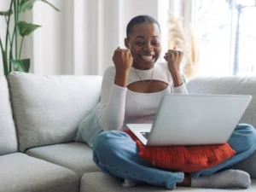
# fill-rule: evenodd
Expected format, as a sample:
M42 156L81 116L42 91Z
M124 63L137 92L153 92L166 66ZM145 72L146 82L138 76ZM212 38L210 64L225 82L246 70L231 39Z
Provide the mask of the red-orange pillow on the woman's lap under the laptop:
M172 172L198 172L217 166L236 154L228 143L187 147L146 147L130 130L125 132L137 143L139 155L143 160Z

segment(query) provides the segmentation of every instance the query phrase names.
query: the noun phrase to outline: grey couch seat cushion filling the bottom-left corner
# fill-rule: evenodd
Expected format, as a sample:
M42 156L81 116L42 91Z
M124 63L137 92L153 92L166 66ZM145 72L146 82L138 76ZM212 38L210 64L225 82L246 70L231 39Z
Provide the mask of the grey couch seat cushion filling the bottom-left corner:
M79 176L26 154L0 156L1 192L78 192Z

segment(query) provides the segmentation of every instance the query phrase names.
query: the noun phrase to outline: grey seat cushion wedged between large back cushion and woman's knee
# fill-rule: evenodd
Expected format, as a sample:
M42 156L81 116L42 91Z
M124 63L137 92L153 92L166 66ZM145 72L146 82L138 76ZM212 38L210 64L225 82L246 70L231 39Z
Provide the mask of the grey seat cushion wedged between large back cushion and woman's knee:
M92 150L84 143L63 143L40 148L31 148L26 154L47 160L76 172L82 177L85 172L98 172L92 161Z

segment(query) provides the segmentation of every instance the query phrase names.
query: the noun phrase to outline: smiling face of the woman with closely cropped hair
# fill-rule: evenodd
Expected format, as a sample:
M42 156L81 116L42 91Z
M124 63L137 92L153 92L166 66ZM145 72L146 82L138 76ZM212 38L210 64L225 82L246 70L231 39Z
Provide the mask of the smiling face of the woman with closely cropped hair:
M142 23L133 26L125 46L131 49L133 67L146 70L154 67L161 52L160 28L157 24Z

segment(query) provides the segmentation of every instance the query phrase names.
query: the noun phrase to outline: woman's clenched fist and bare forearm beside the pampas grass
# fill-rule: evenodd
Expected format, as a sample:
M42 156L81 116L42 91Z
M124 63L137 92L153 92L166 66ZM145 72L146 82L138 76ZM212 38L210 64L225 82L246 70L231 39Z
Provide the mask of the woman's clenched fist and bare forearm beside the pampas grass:
M164 57L168 62L168 68L169 72L172 74L174 86L180 86L183 84L183 79L181 78L180 73L180 64L183 59L183 52L174 47L174 49L169 49Z

